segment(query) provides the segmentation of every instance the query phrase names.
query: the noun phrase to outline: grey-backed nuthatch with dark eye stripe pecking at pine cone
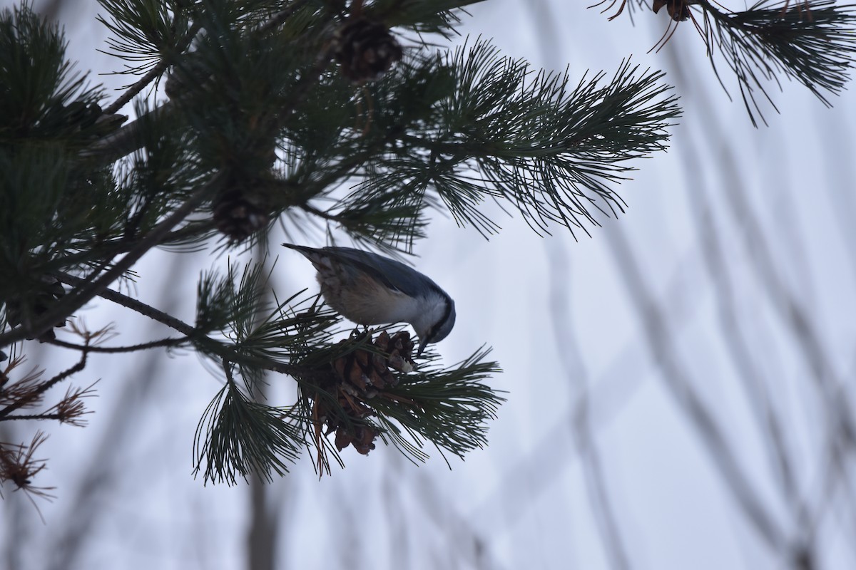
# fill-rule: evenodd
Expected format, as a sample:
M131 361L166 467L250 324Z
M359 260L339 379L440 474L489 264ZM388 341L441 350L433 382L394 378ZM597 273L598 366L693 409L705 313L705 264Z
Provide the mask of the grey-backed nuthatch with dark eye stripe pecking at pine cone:
M348 320L413 325L419 336L417 358L425 344L443 340L455 326L455 302L446 291L399 261L354 248L282 245L312 261L324 300Z

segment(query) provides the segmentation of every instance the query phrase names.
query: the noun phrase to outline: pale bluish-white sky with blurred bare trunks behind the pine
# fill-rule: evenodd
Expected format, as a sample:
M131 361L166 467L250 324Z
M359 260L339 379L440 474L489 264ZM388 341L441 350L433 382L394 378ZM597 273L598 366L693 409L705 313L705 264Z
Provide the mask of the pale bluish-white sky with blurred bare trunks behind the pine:
M62 13L71 56L81 69L116 68L96 52L97 4L71 4L91 10ZM839 385L834 400L852 412L853 91L826 109L799 84L771 86L782 114L764 109L770 126L755 129L688 22L649 54L665 10L636 10L634 27L587 4L491 0L461 32L535 68L568 65L572 83L586 69L609 76L631 54L664 69L684 113L668 153L636 162L619 189L627 213L580 242L560 227L539 238L519 215L497 214L503 229L490 241L438 217L417 267L455 298L455 331L437 345L444 361L486 343L502 364L491 385L508 402L490 446L451 470L436 453L415 467L395 450L349 449L347 467L321 481L304 455L260 491L276 567L782 568L808 537L817 568L856 567L853 447L830 467L830 408L817 389ZM140 297L190 320L196 276L212 262L226 259L152 252L137 267ZM316 286L292 252L276 267L277 291ZM121 344L163 333L107 303L81 314L92 328L116 322ZM74 360L37 344L27 355L49 370ZM251 487L203 487L190 473L217 379L196 356L157 353L92 356L74 384L98 378L89 426L42 426L50 463L39 484L58 497L39 503L46 524L4 491L0 567L246 567ZM290 381L272 382L271 402L290 403ZM687 394L713 420L721 453ZM789 472L772 451L771 418ZM12 437L36 427L12 426ZM722 467L728 457L735 471ZM773 544L758 520L770 521Z

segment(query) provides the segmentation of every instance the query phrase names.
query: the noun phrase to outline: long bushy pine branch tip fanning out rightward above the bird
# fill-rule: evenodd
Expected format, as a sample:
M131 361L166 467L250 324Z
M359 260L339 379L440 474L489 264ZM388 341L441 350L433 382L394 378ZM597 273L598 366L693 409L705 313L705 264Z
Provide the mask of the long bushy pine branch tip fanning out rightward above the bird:
M421 96L401 92L420 78L431 78ZM680 109L662 78L622 62L609 80L596 73L574 86L567 73L533 73L481 40L445 61L401 66L373 86L390 109L374 125L398 133L400 148L367 165L371 175L342 207L397 203L413 223L411 209L442 203L459 224L490 234L498 226L480 208L502 199L536 232L558 222L587 234L595 213L623 211L609 184L633 171L625 162L665 148Z

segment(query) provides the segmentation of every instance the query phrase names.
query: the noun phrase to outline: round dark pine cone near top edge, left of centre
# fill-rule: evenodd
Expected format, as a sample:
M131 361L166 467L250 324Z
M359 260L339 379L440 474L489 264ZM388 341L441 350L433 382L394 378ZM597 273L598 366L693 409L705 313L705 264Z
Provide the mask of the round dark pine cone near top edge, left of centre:
M336 30L334 42L342 74L354 83L380 79L403 55L386 26L366 18L346 22Z

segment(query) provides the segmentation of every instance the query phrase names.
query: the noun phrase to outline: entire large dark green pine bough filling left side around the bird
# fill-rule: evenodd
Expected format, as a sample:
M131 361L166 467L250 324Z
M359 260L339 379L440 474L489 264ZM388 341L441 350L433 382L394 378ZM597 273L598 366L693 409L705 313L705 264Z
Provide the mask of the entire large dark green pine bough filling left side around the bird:
M427 444L463 456L486 445L502 397L484 382L499 368L481 348L451 367L430 354L414 369L397 330L342 338L318 297L282 300L270 268L253 262L203 273L195 320L183 322L116 286L137 278L149 250L252 247L275 223L294 231L313 221L410 251L430 209L496 232L484 209L495 201L538 232L587 233L598 214L623 209L614 186L628 162L664 150L679 115L663 73L628 61L574 80L482 39L429 46L454 34L471 2L100 2L107 51L136 78L111 104L73 72L57 26L27 3L0 15L0 348L15 363L3 372L0 420L39 399L2 399L25 338L81 356L51 379L27 379L39 395L98 353L192 349L223 376L194 444L206 481L270 479L307 447L324 473L330 456L341 463L340 450L367 453L377 438L413 461ZM177 83L164 101L150 88L167 77ZM130 125L99 121L132 100ZM173 336L107 345L121 330L88 332L74 316L96 297ZM296 402L262 401L270 373L297 382ZM89 393L70 391L58 409L84 413Z

